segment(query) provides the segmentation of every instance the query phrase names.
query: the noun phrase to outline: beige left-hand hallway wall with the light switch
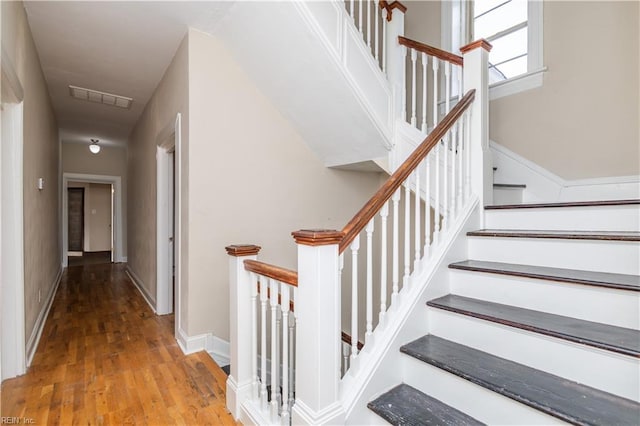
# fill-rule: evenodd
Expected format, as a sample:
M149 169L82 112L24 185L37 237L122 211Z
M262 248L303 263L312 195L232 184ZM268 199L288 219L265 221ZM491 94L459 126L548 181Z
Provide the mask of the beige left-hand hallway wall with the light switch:
M28 341L46 295L60 271L58 126L21 2L1 2L2 48L24 89L25 337ZM44 178L42 191L36 187ZM42 298L38 302L38 292Z

